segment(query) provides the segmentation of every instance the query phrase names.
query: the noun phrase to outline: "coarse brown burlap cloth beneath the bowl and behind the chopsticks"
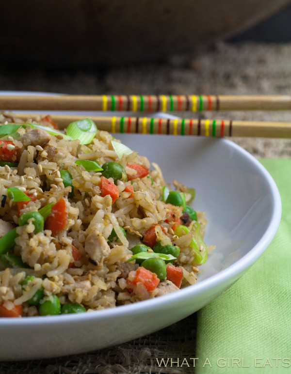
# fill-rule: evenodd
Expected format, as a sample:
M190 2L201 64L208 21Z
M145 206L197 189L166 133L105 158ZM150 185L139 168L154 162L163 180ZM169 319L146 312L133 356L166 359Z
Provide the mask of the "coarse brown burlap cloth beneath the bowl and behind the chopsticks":
M102 71L11 71L0 67L1 90L67 94L290 94L291 44L217 44L162 64ZM208 118L289 121L290 111L207 113ZM291 140L231 138L256 157L290 157ZM169 311L170 312L170 311ZM0 363L0 374L194 373L178 367L195 357L196 314L119 346L75 356ZM161 359L172 358L165 367Z

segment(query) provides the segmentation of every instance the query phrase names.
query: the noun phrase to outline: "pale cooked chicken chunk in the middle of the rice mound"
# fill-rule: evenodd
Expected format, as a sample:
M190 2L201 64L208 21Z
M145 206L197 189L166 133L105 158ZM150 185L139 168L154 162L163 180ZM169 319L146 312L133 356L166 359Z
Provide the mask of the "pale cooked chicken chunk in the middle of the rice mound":
M108 257L110 253L110 247L106 239L97 230L93 230L87 236L84 248L90 259L97 264Z

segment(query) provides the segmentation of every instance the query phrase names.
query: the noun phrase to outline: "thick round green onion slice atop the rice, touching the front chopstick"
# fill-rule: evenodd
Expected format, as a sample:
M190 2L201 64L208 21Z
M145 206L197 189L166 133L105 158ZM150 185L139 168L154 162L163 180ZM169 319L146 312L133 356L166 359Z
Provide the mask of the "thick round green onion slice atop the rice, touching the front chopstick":
M80 144L89 144L97 134L95 123L89 118L70 123L66 128L66 133L73 140L80 140Z

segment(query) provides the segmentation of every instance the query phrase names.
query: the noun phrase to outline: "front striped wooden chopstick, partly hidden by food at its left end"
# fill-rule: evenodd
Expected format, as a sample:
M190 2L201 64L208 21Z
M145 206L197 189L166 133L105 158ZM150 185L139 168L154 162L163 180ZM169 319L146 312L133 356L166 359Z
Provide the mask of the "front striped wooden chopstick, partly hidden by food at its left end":
M39 120L43 115L28 113L9 113L23 121ZM53 115L51 118L64 129L69 123L78 121L84 116ZM231 121L231 120L202 120L202 119L165 119L149 117L106 117L90 116L99 130L111 133L131 134L166 134L166 135L196 135L209 137L262 137L262 138L291 138L291 123Z

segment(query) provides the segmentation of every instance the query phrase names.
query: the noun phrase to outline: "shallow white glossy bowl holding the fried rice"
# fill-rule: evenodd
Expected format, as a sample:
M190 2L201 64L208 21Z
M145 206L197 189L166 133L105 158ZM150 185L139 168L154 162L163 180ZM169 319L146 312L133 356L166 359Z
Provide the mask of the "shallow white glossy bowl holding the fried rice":
M198 282L176 293L114 309L0 319L0 359L48 358L124 343L169 326L208 304L259 258L281 216L275 182L253 156L226 139L116 135L158 162L167 182L196 188L206 212L205 241L216 245Z

